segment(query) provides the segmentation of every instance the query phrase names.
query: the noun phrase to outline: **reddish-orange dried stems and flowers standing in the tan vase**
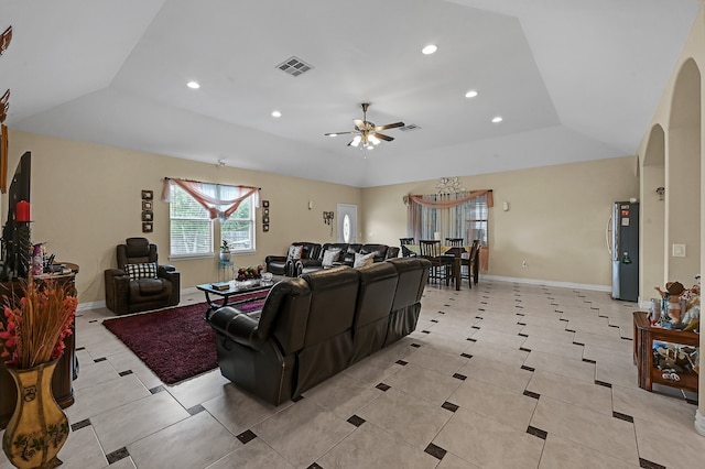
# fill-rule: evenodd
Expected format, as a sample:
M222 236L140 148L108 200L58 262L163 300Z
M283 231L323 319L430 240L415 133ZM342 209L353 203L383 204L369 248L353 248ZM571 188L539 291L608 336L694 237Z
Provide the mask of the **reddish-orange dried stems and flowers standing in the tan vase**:
M30 276L22 283L24 296L19 302L10 302L3 296L0 360L4 364L24 370L64 353L64 339L72 334L78 306L78 299L68 288L68 285L58 285L51 280L36 284Z

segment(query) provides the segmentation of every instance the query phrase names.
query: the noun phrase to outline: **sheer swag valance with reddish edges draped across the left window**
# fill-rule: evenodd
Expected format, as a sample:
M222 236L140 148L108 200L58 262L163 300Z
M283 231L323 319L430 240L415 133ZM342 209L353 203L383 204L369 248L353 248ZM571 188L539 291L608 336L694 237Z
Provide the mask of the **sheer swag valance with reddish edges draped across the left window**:
M229 186L220 184L202 183L199 181L164 178L162 200L171 201L172 183L184 189L206 210L210 219L227 220L238 209L242 200L252 196L256 208L260 206L259 187Z

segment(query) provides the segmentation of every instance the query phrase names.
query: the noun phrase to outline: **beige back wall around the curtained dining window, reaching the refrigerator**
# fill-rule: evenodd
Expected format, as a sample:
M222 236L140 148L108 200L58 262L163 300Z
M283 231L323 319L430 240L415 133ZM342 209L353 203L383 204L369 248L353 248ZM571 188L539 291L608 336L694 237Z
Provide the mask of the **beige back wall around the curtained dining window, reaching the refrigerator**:
M459 177L467 189L495 194L487 274L607 288L611 264L605 229L612 201L639 196L636 162L627 156ZM433 194L436 184L434 179L366 188L366 240L398 244L406 236L402 197ZM502 210L505 201L509 211Z

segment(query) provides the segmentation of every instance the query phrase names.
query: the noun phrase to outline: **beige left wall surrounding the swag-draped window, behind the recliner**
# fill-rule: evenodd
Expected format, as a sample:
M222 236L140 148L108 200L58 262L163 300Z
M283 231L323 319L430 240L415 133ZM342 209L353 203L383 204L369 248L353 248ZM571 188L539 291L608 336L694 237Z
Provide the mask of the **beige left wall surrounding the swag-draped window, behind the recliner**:
M73 142L10 130L9 178L24 151L32 151L32 240L46 242L57 260L80 265L79 302L105 299L102 272L116 266L115 247L147 236L169 260L169 206L159 200L165 176L261 187L270 200L270 231L257 227L257 254L234 257L236 265L262 263L284 254L294 240L335 241L322 211L336 203L361 204L361 189L284 177L156 154ZM141 190L154 190L154 232L143 234ZM308 209L308 201L313 209ZM2 197L2 222L7 197ZM360 210L360 214L362 210ZM258 216L259 219L259 216ZM217 254L216 254L217 255ZM182 272L182 288L213 281L217 257L171 261Z

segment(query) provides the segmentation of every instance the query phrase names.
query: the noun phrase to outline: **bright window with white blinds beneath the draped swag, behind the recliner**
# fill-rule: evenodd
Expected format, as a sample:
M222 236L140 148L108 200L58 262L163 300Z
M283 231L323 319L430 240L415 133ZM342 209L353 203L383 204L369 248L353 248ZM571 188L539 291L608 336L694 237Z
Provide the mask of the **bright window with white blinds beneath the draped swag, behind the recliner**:
M200 185L206 195L228 200L238 196L238 188L220 184ZM183 188L171 183L171 253L172 258L214 255L216 242L227 240L230 252L254 250L254 200L250 196L242 200L237 210L226 220L216 222L208 210L191 197ZM225 207L218 207L218 209ZM217 227L214 228L214 226ZM215 232L219 228L219 241Z

